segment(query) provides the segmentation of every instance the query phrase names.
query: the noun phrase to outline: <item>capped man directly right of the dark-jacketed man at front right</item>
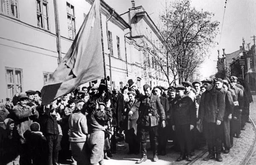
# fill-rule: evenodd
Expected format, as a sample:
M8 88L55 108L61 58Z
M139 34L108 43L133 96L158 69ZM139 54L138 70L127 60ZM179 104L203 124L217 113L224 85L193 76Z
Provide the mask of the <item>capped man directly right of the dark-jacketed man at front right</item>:
M230 120L232 119L234 101L230 91L224 90L223 80L221 78L215 79L215 89L220 91L225 100L225 112L223 121L221 123L223 129L223 143L224 143L224 153L227 154L230 152L231 143L230 143Z

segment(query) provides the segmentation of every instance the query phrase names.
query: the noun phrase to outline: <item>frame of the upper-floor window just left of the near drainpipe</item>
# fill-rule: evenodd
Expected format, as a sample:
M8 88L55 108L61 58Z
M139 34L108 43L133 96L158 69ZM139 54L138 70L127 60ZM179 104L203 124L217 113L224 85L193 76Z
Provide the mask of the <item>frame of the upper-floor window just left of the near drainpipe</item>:
M37 8L38 8L38 7L37 7L38 1L40 1L40 7L41 7L40 10L41 10L41 12L39 12L39 11L37 10ZM41 15L41 19L42 19L41 24L43 25L43 27L41 27L41 26L39 26L38 23L37 23L38 28L41 28L41 29L50 31L48 0L35 0L35 3L36 3L36 14L37 14L37 18L38 18L38 14L40 14L40 15ZM47 10L46 15L44 14L44 9L43 9L44 4L46 4L46 10ZM48 27L47 27L47 28L45 28L45 21L44 21L44 20L45 20L45 19L44 19L45 17L47 17L47 24L48 24ZM37 21L38 21L38 19L37 19Z

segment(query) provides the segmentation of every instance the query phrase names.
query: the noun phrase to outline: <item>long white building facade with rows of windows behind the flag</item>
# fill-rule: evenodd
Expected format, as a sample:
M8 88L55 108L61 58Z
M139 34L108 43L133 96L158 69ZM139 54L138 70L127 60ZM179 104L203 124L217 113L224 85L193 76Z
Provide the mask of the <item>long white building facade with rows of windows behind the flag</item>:
M63 58L93 0L0 2L0 99L3 100L12 98L16 92L41 90L58 67L58 51L61 50ZM58 20L55 19L55 11L58 11ZM154 67L151 70L145 67L145 56L150 50L130 36L134 36L134 27L130 22L113 12L104 1L101 1L101 11L106 69L110 76L111 61L112 87L123 87L128 79L136 81L137 77L142 78L137 82L139 86L145 83L167 86L167 81L161 75L149 76L149 72L154 73ZM107 31L106 20L110 17ZM56 22L59 22L59 46Z

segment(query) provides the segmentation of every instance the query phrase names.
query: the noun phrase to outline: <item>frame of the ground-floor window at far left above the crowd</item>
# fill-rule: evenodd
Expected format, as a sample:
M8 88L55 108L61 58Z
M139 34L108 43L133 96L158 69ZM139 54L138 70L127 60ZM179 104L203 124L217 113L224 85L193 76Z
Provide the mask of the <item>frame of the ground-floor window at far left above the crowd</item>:
M9 82L9 76L7 74L8 70L12 70L12 83ZM16 82L16 71L20 71L20 84ZM7 97L13 98L16 94L16 87L18 86L20 88L20 92L23 91L23 69L20 68L14 68L14 67L5 67L5 75L6 75L6 94ZM8 86L12 85L13 90L12 94L9 96Z

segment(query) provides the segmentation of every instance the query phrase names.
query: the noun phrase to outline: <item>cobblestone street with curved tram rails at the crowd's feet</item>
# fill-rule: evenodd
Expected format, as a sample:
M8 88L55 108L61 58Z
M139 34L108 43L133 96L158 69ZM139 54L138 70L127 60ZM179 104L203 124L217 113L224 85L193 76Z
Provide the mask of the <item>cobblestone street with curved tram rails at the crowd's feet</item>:
M253 100L256 101L256 96L253 96ZM250 117L256 123L256 103L250 104ZM192 162L187 162L183 160L181 162L176 162L175 160L179 157L179 153L171 150L171 143L167 144L167 154L166 156L159 156L157 162L152 162L153 154L152 151L148 151L148 160L143 162L142 165L248 165L256 164L256 151L254 151L255 146L253 145L255 139L255 129L253 123L247 123L245 126L245 131L242 131L241 138L234 138L234 147L230 149L229 154L221 154L223 157L223 162L217 162L215 159L204 161L203 157L207 156L207 150L195 150L194 160ZM149 142L148 142L149 147ZM254 151L254 152L253 152ZM124 142L118 143L117 153L113 155L110 160L105 160L106 165L131 165L134 164L138 159L140 159L140 154L138 155L128 155L128 145ZM253 152L252 157L251 153ZM249 159L249 161L248 161Z

